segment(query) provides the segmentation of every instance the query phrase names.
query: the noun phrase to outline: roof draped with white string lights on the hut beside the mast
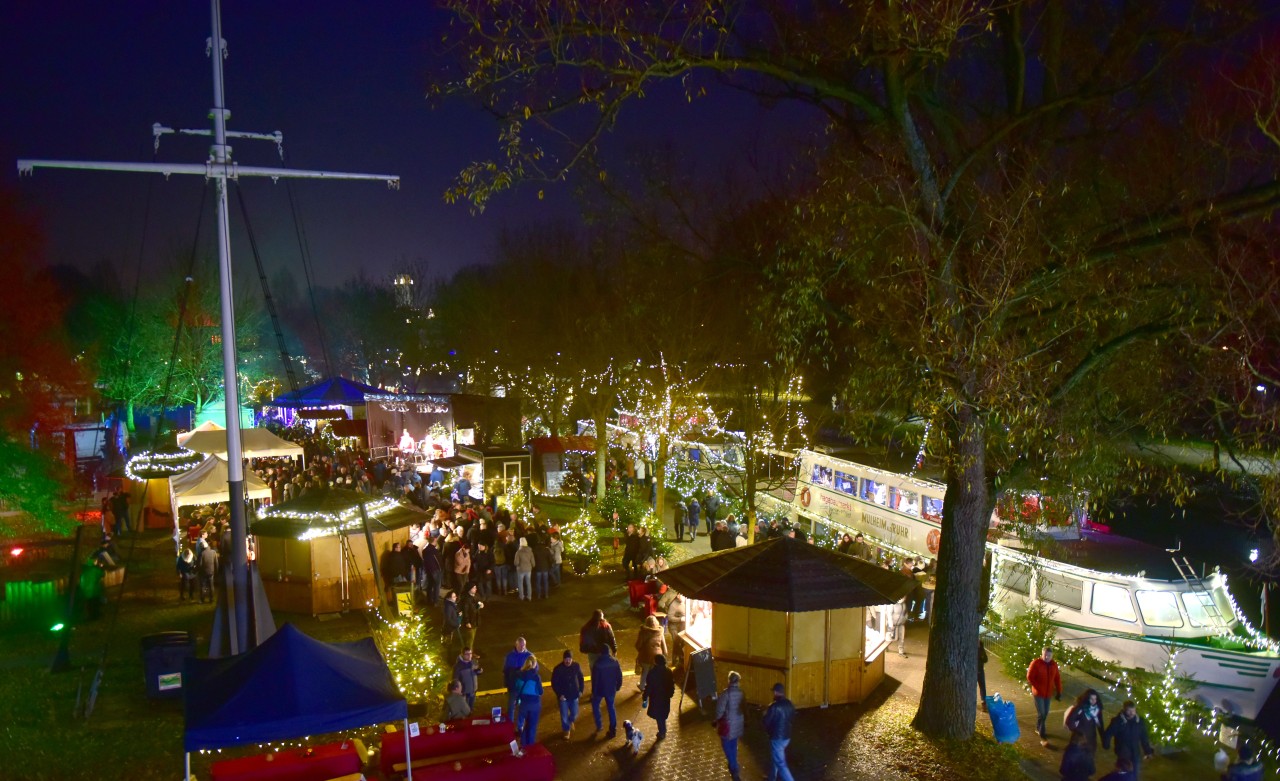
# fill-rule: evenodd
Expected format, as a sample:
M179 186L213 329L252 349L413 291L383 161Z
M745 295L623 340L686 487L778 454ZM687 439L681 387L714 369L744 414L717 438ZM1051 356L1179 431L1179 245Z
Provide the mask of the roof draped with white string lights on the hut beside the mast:
M303 539L360 529L361 501L365 502L372 531L403 529L410 524L425 524L430 520L421 510L396 499L370 497L346 488L312 488L301 497L264 510L261 517L250 524L250 533Z

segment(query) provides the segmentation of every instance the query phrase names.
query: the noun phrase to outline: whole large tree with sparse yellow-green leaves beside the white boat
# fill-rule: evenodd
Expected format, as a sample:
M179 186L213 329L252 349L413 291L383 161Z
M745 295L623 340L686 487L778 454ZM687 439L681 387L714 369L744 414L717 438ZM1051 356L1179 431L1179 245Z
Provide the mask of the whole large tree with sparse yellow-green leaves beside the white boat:
M598 164L622 108L664 82L829 118L820 182L778 215L790 241L762 247L780 343L846 367L846 407L937 433L948 501L914 723L970 737L998 488L1114 479L1114 437L1170 433L1171 366L1213 328L1215 242L1280 205L1258 173L1274 154L1231 157L1179 123L1225 87L1203 52L1256 45L1267 4L447 5L460 69L438 88L502 122L499 159L451 192L475 206Z

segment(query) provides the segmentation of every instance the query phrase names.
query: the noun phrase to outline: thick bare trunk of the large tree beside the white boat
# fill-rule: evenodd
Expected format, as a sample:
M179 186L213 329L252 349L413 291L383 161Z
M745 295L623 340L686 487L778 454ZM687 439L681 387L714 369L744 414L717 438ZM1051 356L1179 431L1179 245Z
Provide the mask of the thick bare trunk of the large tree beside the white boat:
M952 457L942 508L934 618L920 708L911 723L931 737L968 740L977 716L978 595L992 503L979 414L961 406L948 428Z

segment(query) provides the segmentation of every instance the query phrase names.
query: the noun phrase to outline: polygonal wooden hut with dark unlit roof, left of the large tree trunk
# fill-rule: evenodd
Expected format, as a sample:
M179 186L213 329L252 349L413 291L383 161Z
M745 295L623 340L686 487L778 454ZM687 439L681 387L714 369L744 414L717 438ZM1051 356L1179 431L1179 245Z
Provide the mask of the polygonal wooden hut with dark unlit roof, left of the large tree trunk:
M884 611L873 613L915 589L910 577L792 538L699 556L662 580L710 603L717 690L736 670L748 702L772 702L781 681L797 708L861 702L879 685L888 643L868 647L869 625L883 626ZM701 650L690 632L681 640Z

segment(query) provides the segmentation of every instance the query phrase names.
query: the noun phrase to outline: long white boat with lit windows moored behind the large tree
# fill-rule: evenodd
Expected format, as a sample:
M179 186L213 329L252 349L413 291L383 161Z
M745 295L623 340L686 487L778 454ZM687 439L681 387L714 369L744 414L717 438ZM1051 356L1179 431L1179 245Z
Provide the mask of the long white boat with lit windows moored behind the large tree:
M945 498L946 485L933 480L801 451L791 510L815 534L861 533L886 554L933 558ZM1192 696L1256 718L1280 679L1280 644L1249 625L1226 575L1197 574L1176 552L1089 530L1083 511L1065 503L1057 522L1038 529L1051 538L1041 552L1025 549L998 516L1047 504L1037 494L997 504L987 543L991 608L1012 617L1039 603L1059 639L1125 667L1158 670L1176 653Z

